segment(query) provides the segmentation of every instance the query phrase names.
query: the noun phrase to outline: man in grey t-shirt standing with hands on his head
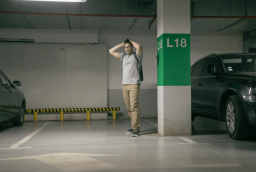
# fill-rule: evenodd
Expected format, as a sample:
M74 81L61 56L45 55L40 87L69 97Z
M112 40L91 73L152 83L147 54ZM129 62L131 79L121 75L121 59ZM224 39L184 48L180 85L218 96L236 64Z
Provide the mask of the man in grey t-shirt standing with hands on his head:
M136 52L133 52L133 45L136 48ZM125 47L126 53L118 52L122 47ZM128 115L131 119L131 129L127 133L133 132L132 137L137 137L140 131L139 91L141 85L140 67L143 59L143 47L127 39L123 43L111 48L109 52L123 63L122 92L128 108Z

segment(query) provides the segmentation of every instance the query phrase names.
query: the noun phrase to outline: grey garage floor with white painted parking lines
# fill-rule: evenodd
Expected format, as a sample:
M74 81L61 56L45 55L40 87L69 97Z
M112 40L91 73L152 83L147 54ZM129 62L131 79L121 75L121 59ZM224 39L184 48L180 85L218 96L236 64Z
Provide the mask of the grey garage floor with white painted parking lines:
M232 140L223 122L196 118L192 136L162 137L157 120L43 121L0 127L1 172L256 171L256 137ZM11 148L10 148L11 147Z

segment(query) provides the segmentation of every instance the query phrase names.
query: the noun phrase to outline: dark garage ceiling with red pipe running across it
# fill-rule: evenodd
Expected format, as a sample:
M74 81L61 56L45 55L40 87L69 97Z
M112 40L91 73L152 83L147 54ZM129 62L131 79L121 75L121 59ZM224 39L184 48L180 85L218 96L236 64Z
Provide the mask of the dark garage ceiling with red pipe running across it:
M1 0L0 28L148 30L156 13L155 0L87 0L86 3ZM252 31L256 29L256 18L247 17L256 16L256 1L193 0L191 16L192 31ZM157 29L157 19L150 29Z

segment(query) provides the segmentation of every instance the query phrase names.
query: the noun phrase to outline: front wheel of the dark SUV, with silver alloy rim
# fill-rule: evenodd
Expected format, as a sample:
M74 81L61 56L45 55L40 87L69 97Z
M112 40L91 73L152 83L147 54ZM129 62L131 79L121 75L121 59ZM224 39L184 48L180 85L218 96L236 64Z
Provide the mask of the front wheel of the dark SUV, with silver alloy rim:
M225 106L225 123L228 135L235 140L244 139L250 135L247 119L238 95L227 99Z

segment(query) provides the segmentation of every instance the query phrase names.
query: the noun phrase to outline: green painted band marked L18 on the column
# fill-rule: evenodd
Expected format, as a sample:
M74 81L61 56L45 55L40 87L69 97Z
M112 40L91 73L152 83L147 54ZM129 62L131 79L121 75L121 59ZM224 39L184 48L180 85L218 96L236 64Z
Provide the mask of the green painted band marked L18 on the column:
M190 34L157 38L157 86L190 86Z

